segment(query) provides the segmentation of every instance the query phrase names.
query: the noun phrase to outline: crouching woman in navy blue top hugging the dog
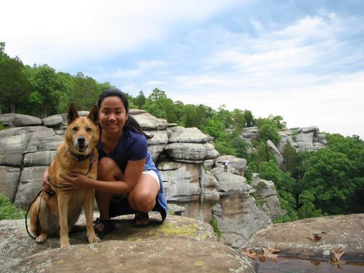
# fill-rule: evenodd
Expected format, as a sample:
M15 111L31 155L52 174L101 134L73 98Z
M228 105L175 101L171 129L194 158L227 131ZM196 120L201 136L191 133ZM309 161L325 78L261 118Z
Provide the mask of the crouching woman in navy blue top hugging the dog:
M137 227L149 224L151 210L166 218L167 202L161 175L151 159L147 139L137 121L129 116L127 97L120 90L102 92L97 101L100 112L97 180L80 173L64 176L63 191L95 188L100 218L95 232L100 239L114 229L111 218L134 214ZM48 172L43 176L43 191L49 191Z

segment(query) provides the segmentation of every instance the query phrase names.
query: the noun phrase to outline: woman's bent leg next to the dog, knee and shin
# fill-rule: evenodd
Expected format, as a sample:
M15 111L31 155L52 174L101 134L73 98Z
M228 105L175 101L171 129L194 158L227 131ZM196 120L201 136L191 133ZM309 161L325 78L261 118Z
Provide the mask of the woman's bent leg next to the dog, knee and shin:
M103 157L100 159L97 166L97 179L101 181L116 181L122 177L122 171L120 170L114 159L109 157ZM95 191L95 198L97 206L100 210L100 218L102 220L109 220L109 208L112 194L103 193L101 191Z

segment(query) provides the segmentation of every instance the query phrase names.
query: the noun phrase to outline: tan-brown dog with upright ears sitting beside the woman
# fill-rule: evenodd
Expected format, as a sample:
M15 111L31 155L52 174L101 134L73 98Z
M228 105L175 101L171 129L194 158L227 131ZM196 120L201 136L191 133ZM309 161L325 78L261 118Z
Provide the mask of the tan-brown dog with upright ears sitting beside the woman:
M83 173L97 178L97 142L99 112L94 105L87 117L80 117L73 103L68 107L68 127L65 139L57 149L54 161L48 168L53 193L41 193L30 208L31 232L36 242L43 243L50 235L60 235L60 247L69 247L68 232L80 217L82 205L86 216L88 242L100 242L93 228L93 204L95 190L84 188L64 193L60 182L62 174Z

